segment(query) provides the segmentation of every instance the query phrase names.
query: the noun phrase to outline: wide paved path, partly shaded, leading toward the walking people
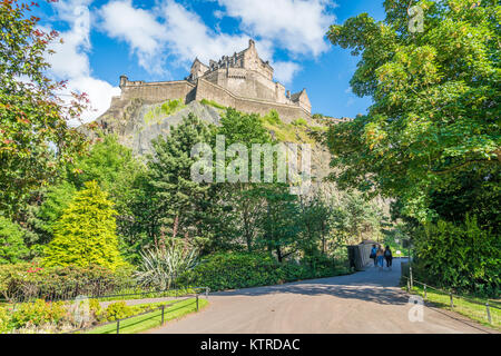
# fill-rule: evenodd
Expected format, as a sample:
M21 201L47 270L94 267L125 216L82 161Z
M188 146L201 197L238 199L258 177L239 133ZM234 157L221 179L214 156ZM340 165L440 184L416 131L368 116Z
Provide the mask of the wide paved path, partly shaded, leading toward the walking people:
M409 297L393 270L248 288L209 295L209 306L153 334L493 333L458 314L424 307L411 323Z

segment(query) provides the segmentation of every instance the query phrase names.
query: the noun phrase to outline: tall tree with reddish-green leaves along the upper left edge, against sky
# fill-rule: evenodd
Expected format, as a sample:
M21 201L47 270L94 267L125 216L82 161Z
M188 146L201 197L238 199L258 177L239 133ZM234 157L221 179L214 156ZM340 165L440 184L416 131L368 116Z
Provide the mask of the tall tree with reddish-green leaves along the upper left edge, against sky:
M45 76L48 46L58 33L43 32L26 2L0 2L0 211L16 215L30 191L84 150L85 136L68 126L87 105L85 95L63 103L63 82Z

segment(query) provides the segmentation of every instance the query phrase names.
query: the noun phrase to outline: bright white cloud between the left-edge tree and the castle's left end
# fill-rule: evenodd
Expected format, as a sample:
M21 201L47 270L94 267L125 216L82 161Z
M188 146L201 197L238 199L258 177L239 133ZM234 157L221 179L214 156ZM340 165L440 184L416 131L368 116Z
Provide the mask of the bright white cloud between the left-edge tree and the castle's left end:
M104 113L109 108L111 97L120 93L119 88L91 76L88 58L91 49L90 13L87 8L90 2L90 0L72 0L56 4L59 18L68 22L70 29L60 33L63 43L52 43L50 48L56 53L47 57L51 65L49 71L52 77L67 80L67 89L61 92L63 99L68 98L70 91L88 95L91 108L81 116L85 122Z

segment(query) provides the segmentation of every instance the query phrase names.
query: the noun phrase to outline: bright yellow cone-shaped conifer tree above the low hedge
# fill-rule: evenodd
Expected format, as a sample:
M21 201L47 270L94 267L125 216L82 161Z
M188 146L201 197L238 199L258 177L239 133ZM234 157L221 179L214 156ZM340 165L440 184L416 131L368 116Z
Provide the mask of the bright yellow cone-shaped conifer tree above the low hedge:
M99 265L115 270L122 265L115 215L108 194L96 181L85 184L55 227L45 250L46 266Z

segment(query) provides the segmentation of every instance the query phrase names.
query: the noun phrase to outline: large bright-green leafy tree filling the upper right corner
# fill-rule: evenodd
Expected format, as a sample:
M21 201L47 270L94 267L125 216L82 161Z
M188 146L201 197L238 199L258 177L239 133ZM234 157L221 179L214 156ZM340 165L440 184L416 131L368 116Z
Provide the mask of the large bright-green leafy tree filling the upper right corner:
M423 32L407 27L415 4L424 10ZM438 215L434 196L460 192L465 176L479 190L499 185L500 6L386 0L384 7L383 22L363 13L327 33L361 55L352 89L374 105L333 126L326 141L344 187L399 197L404 215L429 221ZM461 204L473 210L475 201ZM493 205L499 211L499 199Z

